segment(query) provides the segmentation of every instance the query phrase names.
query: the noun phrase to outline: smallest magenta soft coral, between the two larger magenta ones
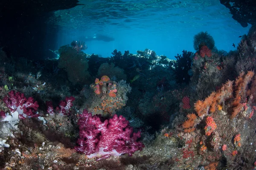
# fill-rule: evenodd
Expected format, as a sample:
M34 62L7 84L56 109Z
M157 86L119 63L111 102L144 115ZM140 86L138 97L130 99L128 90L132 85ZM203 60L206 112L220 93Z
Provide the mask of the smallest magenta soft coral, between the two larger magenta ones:
M70 108L73 106L73 101L75 100L75 97L70 96L66 97L65 100L61 100L58 107L55 108L55 111L53 109L53 105L51 101L47 101L47 113L50 115L54 115L54 113L58 113L61 115L68 115L70 113Z

